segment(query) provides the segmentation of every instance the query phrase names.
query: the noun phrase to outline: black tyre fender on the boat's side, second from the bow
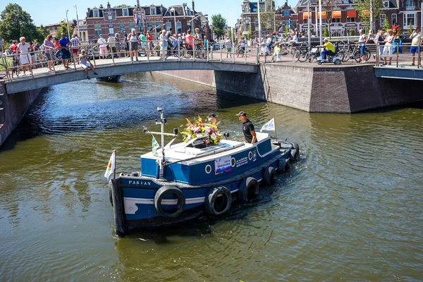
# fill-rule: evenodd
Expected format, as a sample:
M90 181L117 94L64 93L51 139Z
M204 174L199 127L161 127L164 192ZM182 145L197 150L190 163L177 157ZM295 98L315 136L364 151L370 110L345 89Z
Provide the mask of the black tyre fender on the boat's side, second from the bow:
M209 214L220 216L231 209L232 194L228 188L223 186L216 186L210 188L207 196L204 199L204 209Z

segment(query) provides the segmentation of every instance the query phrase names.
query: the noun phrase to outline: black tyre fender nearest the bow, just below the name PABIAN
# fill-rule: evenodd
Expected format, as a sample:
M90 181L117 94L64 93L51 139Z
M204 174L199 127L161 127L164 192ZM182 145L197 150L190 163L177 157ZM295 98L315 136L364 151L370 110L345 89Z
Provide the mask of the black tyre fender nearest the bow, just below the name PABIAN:
M161 200L163 200L164 197L168 197L172 194L176 195L178 199L176 207L174 207L171 211L164 210L161 204ZM157 190L156 195L154 195L154 207L157 209L157 212L159 212L161 216L174 219L178 217L185 208L185 196L183 195L183 192L176 186L164 185L159 190Z

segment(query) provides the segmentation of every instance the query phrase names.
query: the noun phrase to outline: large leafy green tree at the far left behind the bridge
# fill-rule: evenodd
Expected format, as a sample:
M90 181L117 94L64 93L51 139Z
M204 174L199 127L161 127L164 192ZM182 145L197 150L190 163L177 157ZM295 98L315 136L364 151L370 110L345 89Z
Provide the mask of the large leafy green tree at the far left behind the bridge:
M6 42L21 36L31 41L37 38L38 32L29 13L18 4L8 4L0 13L0 34Z

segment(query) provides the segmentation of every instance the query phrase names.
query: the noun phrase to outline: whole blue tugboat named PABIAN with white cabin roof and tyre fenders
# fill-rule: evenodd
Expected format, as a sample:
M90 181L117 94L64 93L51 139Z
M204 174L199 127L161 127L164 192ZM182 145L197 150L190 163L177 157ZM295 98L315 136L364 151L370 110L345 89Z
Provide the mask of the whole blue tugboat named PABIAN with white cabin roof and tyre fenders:
M276 172L287 171L300 154L298 144L262 132L256 132L255 144L219 140L210 145L210 135L198 134L192 140L173 145L173 139L164 146L164 136L176 138L178 129L164 133L166 118L161 107L157 111L161 132L143 128L153 135L153 150L142 154L140 173L121 173L117 178L115 173L109 181L118 236L170 226L204 213L221 216L235 200L250 202L257 197L259 186L272 185ZM154 149L159 147L154 135L160 135L161 149Z

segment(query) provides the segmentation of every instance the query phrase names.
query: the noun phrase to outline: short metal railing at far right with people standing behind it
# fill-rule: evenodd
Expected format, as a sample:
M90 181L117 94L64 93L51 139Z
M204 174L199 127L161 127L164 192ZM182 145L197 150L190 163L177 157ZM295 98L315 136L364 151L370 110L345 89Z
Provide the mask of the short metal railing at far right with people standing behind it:
M423 45L412 46L411 43L400 45L378 44L376 48L376 66L422 68L422 51Z

